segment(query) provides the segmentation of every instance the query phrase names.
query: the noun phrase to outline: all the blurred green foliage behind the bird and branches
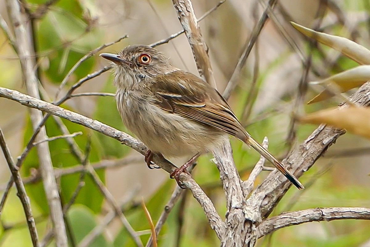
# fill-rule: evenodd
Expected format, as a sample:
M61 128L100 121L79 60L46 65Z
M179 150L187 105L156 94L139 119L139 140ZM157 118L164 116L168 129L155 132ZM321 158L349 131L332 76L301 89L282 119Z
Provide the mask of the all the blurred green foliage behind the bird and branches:
M27 2L34 4L33 9L36 10L37 4L43 4L47 1L48 0L28 0ZM47 81L47 83L50 82L54 85L60 84L67 72L81 57L103 43L104 27L90 28L91 20L85 18L86 12L84 11L84 6L81 6L81 4L83 4L82 2L83 1L77 0L57 1L48 13L41 20L37 21L37 50L44 55L41 61L41 64L43 64L41 66L41 76L46 78L45 81ZM160 6L167 6L165 1L157 0L155 2L160 3ZM351 6L353 7L353 5ZM365 4L365 6L369 8L368 5ZM145 27L143 27L143 29L144 28ZM338 27L338 29L341 29L341 27ZM230 40L235 40L233 37L228 38ZM234 49L234 47L232 48ZM326 48L324 48L324 50L325 49ZM260 88L270 74L276 73L276 70L282 69L280 64L282 64L290 54L290 51L282 53L282 55L275 61L272 61L265 70L260 71L257 89ZM320 52L314 50L313 63L321 59L322 56ZM333 73L337 71L338 68L344 70L354 65L351 60L343 57L340 57L337 63L337 67L334 67L332 70ZM88 73L91 73L91 71L97 67L96 58L92 57L88 59L78 67L68 82L70 84L74 83ZM14 76L13 73L15 69L13 66L3 64L1 64L1 68L4 68L4 73L0 75L0 83L3 86L9 85L11 78L9 74ZM250 71L245 71L245 73L250 74ZM249 91L245 89L248 89L251 83L252 81L250 79L242 81L242 90L235 90L233 99L230 100L232 108L240 118L243 115L245 99L249 94ZM115 91L111 76L106 81L102 91L111 93ZM255 99L255 97L253 97L253 99ZM287 96L286 101L290 100L291 97ZM305 110L314 111L323 104L335 103L323 102L322 104L305 106ZM71 109L67 104L63 107ZM103 123L127 132L118 111L115 109L114 98L99 97L92 116ZM264 136L268 136L269 150L279 157L279 155L282 156L288 151L285 145L285 139L289 127L290 116L287 116L286 113L270 113L271 111L272 109L266 109L257 116L252 115L250 118L246 119L245 123L248 125L247 130L249 133L257 140L262 141ZM268 117L263 120L258 120L258 117L266 113L268 113ZM88 138L90 138L89 136L91 135L90 163L98 162L103 158L124 157L131 151L130 148L122 145L117 140L100 133L91 133L89 129L65 120L63 120L63 123L71 133L77 131L83 132L83 135L74 138L81 150L85 150ZM25 120L24 125L23 145L27 143L33 133L29 119ZM297 131L298 143L304 140L313 129L314 127L312 126L299 126ZM50 137L61 135L61 131L58 129L53 118L49 118L47 121L46 130ZM259 159L259 155L235 138L231 140L231 143L236 167L240 171L241 178L246 179L248 178L250 170ZM48 144L51 158L56 168L73 167L80 164L77 158L71 154L70 148L64 139L50 141ZM315 176L318 176L317 173L320 169L330 162L329 159L320 160L318 164L307 171L300 180L303 184L307 181L315 180ZM32 168L37 167L37 152L36 149L33 148L21 168L22 176L30 176ZM363 187L356 185L356 183L349 183L346 184L346 186L339 184L338 179L340 178L338 178L336 174L346 173L346 169L350 169L350 167L336 167L336 165L333 164L331 168L328 169L329 170L323 174L320 179L315 180L313 185L306 190L297 191L295 188L291 188L286 196L282 198L272 215L277 215L287 210L316 207L370 207L370 194L364 193ZM337 173L333 172L334 169L338 170ZM105 171L98 170L97 172L101 180L105 183ZM261 183L267 174L267 171L263 171L257 178L256 184ZM136 175L137 174L135 174L135 176ZM198 165L193 175L195 180L205 190L206 194L212 199L221 217L224 217L226 213L225 195L223 194L221 181L219 179L219 172L213 164L210 154L203 155L199 158ZM80 174L76 173L58 179L64 204L68 203L71 199L72 194L77 188L79 177ZM88 175L85 176L84 182L85 186L78 194L75 205L68 211L68 221L77 243L100 223L102 215L105 213L105 210L102 209L103 197L100 191ZM151 213L154 223L157 222L166 202L171 196L174 186L176 186L176 183L168 179L146 200L145 204ZM42 239L50 228L48 205L43 184L40 181L27 184L26 189L30 196L34 216L36 217L37 230ZM189 191L186 191L184 208L183 210L180 207L180 203L177 203L169 214L168 220L158 236L159 246L175 246L177 234L181 227L179 224L180 216L183 216L184 222L181 229L179 246L218 246L218 238L215 236L211 227L209 227L201 206L194 200ZM141 206L129 207L124 210L124 213L135 230L149 229L149 223ZM16 196L14 188L10 193L10 197L1 215L1 220L3 224L0 226L0 246L31 246L23 208ZM307 233L307 231L310 232ZM301 226L287 227L279 230L272 234L270 240L269 237L259 240L258 246L359 246L361 243L369 240L369 232L370 225L366 221L343 220L306 223ZM141 236L141 240L144 244L148 238L148 234ZM53 245L54 243L51 243L49 246ZM108 236L103 232L90 246L129 247L134 246L134 243L127 231L122 227L113 236Z

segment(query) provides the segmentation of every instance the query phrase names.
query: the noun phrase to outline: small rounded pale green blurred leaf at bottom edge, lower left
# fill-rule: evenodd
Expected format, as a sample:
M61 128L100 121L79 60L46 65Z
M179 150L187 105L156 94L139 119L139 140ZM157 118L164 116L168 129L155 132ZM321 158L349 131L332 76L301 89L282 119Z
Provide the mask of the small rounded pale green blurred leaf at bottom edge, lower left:
M77 243L80 243L84 237L90 233L97 222L94 218L93 212L83 205L74 205L68 211L68 220L71 224L72 233ZM89 247L111 247L102 234L99 234Z

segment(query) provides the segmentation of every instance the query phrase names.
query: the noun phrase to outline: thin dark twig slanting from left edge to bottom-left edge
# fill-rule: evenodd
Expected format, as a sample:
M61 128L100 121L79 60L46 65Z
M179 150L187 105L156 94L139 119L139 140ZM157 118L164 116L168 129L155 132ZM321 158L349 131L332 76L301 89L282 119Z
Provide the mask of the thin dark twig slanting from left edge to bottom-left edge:
M1 146L1 149L3 150L4 156L8 163L9 169L11 171L11 175L13 176L13 179L16 183L18 196L21 200L21 203L24 209L24 214L26 214L27 225L28 225L28 229L30 230L32 244L34 247L38 247L40 246L40 244L38 242L38 234L37 234L35 219L33 218L33 215L32 215L30 198L27 196L26 188L24 188L24 184L22 182L22 178L19 173L19 170L17 166L14 164L13 158L10 155L9 148L5 142L4 133L3 133L3 130L1 130L1 128L0 128L0 146Z

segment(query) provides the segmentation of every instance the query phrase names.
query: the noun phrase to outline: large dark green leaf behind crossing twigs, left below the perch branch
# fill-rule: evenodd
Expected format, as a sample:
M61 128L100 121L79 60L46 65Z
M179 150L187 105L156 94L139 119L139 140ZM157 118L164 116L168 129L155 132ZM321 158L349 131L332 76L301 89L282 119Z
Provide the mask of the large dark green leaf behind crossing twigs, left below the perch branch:
M65 124L65 126L68 128L70 133L74 133L77 131L82 131L83 135L77 136L74 138L78 146L84 150L85 145L87 143L88 134L91 133L91 130L88 128L85 128L83 126L80 126L78 124L71 123L67 120L62 120ZM24 134L24 145L27 144L28 140L31 137L31 134L33 133L31 122L28 119L26 124L26 131ZM58 136L61 135L61 131L57 127L57 124L55 123L54 119L50 117L46 121L46 131L49 137L52 136ZM67 141L65 139L58 139L54 141L48 142L49 148L50 148L50 154L51 154L51 161L53 162L54 167L58 168L65 168L65 167L71 167L75 165L79 165L80 162L77 160L77 158L71 154L70 148L67 144ZM91 151L90 151L90 162L97 162L100 160L99 156L99 149L97 148L96 140L91 140ZM36 147L34 147L31 152L28 154L26 160L24 161L24 164L21 168L21 173L23 176L30 176L31 168L38 168L38 156ZM104 170L98 170L98 175L102 179L102 181L105 181L105 171ZM80 173L76 174L69 174L66 176L62 176L60 179L60 187L61 187L61 195L64 203L67 203L71 196L73 195L75 189L77 188L77 185L79 183L80 179ZM92 181L90 176L85 176L85 186L81 189L80 193L78 194L75 203L84 204L85 206L89 207L92 211L95 213L100 212L101 205L103 201L103 196L95 186L95 183ZM41 181L35 183L35 184L28 184L27 185L27 192L30 197L32 197L37 205L41 208L41 211L44 214L48 213L48 205L46 196L44 193L44 187Z

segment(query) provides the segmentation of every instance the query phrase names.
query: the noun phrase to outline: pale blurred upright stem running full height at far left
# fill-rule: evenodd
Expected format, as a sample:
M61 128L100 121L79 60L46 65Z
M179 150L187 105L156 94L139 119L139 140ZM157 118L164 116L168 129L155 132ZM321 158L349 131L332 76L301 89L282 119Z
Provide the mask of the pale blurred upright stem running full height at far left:
M32 44L33 33L28 15L20 2L17 0L7 0L8 9L13 21L13 29L15 34L16 51L20 57L23 80L26 84L28 93L40 98L38 92L38 78L35 68L36 61L34 59L34 47ZM32 127L36 130L38 124L42 121L43 116L40 111L31 110ZM41 128L40 133L36 137L36 141L46 139L46 129ZM38 159L40 163L41 176L43 177L44 190L46 193L48 206L50 209L51 221L53 222L55 231L55 243L58 247L67 247L67 235L63 221L63 212L60 204L57 183L53 173L53 165L51 163L50 150L48 143L40 143L37 146Z

